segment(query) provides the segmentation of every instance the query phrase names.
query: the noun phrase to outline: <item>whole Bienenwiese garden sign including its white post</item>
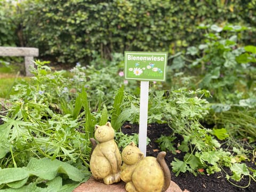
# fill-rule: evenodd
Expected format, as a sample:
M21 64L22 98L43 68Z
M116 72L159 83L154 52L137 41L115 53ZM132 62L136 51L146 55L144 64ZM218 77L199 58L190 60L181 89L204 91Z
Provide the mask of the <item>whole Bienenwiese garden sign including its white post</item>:
M149 81L165 81L167 53L125 52L125 79L140 82L139 149L146 156Z

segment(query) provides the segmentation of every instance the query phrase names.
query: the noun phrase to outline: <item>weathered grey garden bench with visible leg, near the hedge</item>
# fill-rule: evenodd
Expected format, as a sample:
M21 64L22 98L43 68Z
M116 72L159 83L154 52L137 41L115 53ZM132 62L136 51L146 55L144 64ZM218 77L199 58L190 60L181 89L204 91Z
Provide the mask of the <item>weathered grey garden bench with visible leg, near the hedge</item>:
M30 67L34 66L34 57L37 57L39 50L34 47L5 47L0 46L0 56L3 57L25 57L25 72L26 76L32 76L29 71Z

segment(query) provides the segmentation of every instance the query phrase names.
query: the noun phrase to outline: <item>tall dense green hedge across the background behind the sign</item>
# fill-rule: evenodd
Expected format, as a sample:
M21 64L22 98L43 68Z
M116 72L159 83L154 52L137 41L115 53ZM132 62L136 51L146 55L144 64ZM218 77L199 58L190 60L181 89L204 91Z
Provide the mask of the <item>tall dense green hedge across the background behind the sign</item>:
M113 52L180 51L201 41L199 23L255 25L256 1L57 1L23 2L28 45L59 62L83 62ZM252 31L246 41L255 41Z

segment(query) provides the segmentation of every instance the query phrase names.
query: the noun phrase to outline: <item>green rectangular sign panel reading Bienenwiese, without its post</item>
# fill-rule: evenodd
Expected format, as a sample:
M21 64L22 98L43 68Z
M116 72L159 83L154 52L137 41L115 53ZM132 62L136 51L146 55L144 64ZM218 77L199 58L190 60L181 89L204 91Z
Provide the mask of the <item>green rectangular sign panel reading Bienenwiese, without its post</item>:
M165 81L167 53L125 52L125 79Z

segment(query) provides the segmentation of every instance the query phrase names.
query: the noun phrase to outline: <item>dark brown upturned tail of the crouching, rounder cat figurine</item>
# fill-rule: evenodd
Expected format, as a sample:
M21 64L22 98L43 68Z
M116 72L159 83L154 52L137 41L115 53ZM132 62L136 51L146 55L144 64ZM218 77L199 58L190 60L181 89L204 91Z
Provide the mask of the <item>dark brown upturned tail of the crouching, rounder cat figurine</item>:
M156 157L157 162L160 164L164 172L164 186L163 186L162 192L166 191L169 188L171 183L171 172L164 160L165 155L166 155L166 152L161 151Z

